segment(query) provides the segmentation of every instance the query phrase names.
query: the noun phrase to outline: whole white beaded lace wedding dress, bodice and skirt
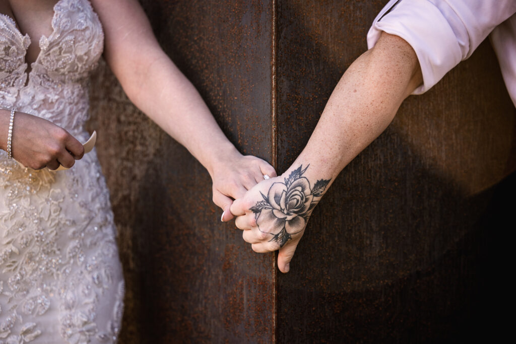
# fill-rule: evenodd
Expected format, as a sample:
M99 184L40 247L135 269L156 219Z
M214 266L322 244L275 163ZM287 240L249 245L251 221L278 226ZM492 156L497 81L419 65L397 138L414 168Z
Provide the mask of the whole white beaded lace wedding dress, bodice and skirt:
M85 142L102 26L88 0L59 0L52 27L27 73L30 39L0 14L0 108L45 118ZM123 294L95 151L59 172L21 168L0 151L0 344L115 342Z

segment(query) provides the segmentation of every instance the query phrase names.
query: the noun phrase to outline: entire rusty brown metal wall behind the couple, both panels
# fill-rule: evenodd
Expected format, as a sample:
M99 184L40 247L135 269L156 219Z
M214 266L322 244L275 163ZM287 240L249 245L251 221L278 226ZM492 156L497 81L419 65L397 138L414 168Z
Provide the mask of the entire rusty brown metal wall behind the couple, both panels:
M141 3L228 138L281 173L385 1ZM207 172L105 65L91 90L127 283L122 343L492 339L516 111L488 42L341 173L286 275L218 221Z

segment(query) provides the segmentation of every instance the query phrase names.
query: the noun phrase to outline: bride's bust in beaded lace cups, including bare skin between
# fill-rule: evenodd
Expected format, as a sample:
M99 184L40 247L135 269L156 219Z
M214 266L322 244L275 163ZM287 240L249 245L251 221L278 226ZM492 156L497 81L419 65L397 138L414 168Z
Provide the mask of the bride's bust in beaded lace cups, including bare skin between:
M2 88L19 88L43 75L56 84L84 78L102 54L102 25L88 0L37 1L46 4L21 12L11 7L12 16L0 13Z

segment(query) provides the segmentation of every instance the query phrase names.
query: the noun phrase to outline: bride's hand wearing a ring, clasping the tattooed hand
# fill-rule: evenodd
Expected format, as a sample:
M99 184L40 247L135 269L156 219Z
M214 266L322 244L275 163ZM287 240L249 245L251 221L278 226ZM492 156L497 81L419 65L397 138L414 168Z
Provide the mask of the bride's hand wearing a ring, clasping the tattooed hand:
M236 150L218 157L213 166L213 202L222 209L221 221L233 219L230 207L257 183L264 175L275 177L276 171L265 160L252 155L241 155Z

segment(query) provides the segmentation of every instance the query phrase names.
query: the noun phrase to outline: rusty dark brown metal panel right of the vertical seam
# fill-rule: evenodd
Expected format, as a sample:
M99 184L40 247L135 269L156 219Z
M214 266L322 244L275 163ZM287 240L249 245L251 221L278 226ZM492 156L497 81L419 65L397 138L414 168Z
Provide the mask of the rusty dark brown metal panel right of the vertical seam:
M278 1L278 173L385 3ZM338 176L278 275L277 342L492 339L508 298L496 272L511 269L515 112L488 41L409 97Z

